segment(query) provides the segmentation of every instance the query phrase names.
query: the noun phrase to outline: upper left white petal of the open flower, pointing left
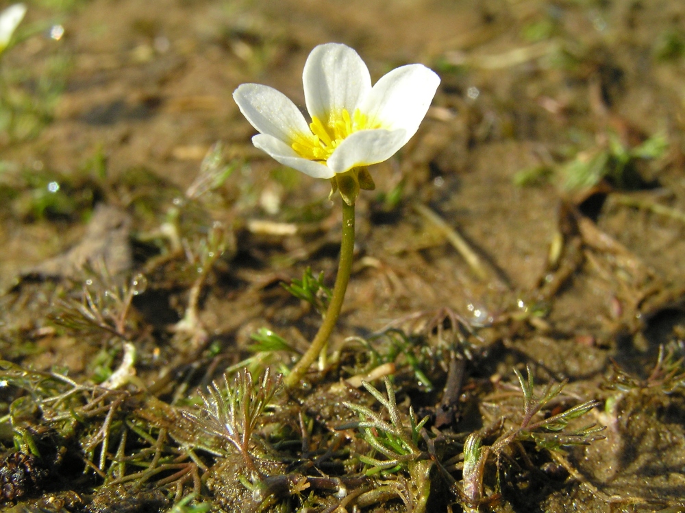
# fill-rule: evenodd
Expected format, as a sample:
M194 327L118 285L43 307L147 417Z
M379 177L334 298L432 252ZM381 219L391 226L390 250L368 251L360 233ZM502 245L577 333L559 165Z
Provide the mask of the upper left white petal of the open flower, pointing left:
M297 106L273 87L242 84L233 98L242 115L262 134L290 144L296 134L312 133Z

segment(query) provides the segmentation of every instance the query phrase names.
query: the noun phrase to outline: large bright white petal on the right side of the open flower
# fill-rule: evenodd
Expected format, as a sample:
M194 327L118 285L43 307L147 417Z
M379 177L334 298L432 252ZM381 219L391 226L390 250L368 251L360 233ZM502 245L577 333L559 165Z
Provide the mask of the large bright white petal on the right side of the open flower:
M405 130L404 145L419 130L439 84L440 77L423 64L401 66L375 83L359 109L384 128Z

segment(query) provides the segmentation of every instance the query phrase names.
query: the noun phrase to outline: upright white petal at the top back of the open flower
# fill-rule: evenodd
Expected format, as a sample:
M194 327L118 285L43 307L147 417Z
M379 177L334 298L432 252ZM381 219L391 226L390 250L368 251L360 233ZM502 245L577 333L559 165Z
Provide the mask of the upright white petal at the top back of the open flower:
M371 91L371 75L359 54L338 43L319 45L309 54L302 73L310 116L326 123L331 112L352 114Z

